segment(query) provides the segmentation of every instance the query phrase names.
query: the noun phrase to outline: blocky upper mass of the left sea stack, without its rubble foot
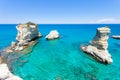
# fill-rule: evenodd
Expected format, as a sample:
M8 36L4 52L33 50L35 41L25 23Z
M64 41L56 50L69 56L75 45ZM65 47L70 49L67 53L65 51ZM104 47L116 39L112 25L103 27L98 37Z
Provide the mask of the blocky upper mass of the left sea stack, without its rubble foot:
M41 33L39 33L37 24L32 22L19 24L16 28L18 30L16 40L20 45L26 45L28 42L42 36Z

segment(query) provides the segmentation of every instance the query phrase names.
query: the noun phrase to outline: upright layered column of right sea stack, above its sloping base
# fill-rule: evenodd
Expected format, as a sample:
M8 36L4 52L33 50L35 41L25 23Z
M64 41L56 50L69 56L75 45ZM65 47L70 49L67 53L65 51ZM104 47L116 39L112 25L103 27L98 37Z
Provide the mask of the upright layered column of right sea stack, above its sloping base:
M90 42L90 45L100 50L106 50L108 48L107 40L109 38L109 33L110 29L108 27L97 28L97 33Z

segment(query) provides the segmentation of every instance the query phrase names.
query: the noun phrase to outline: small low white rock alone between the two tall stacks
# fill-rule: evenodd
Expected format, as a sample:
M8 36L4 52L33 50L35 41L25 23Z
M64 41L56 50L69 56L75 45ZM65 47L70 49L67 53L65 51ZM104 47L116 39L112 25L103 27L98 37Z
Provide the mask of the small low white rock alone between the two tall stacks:
M59 32L57 30L51 30L50 33L45 37L47 40L59 38Z

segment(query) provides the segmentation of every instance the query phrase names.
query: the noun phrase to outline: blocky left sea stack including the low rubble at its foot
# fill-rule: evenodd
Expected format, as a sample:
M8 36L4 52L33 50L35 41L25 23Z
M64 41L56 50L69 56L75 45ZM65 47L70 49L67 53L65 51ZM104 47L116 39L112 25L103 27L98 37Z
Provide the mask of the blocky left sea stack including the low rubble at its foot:
M12 42L11 46L5 49L7 53L22 51L32 44L36 44L37 39L42 36L41 33L39 33L37 24L32 22L19 24L16 28L18 30L16 36L17 42Z

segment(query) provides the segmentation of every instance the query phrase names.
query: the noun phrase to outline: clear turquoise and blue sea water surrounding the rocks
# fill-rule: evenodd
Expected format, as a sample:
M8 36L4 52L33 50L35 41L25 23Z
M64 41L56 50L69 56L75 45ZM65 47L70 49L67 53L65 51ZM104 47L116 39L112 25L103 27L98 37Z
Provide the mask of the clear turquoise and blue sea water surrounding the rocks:
M15 40L16 25L0 25L0 49ZM120 40L109 38L109 52L113 63L104 65L96 62L80 50L80 44L94 37L94 25L39 25L43 38L33 51L13 61L13 73L24 80L120 80ZM120 25L107 24L111 34L120 34ZM61 39L46 41L45 35L57 29Z

